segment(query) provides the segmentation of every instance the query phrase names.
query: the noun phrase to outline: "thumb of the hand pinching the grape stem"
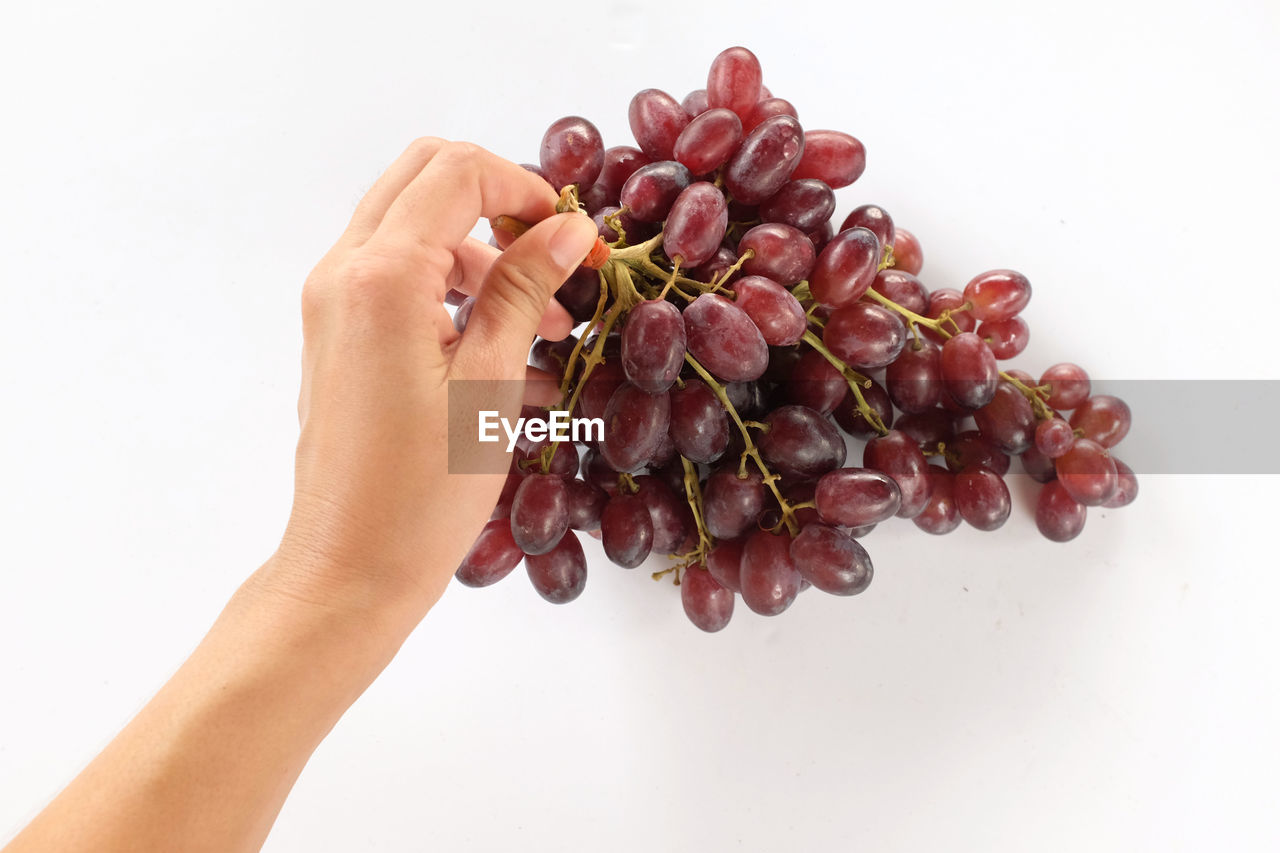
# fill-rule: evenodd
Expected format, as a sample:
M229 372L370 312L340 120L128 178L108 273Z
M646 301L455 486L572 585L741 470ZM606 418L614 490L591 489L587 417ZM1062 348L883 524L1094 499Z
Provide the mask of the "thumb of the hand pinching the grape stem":
M549 216L521 234L485 274L454 361L498 368L503 378L524 377L529 346L552 295L598 236L595 223L577 213Z

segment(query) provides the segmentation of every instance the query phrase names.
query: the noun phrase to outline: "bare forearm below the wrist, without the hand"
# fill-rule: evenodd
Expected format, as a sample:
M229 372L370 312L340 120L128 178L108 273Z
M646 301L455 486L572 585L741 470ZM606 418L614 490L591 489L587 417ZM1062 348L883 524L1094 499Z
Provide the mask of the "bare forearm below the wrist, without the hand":
M256 850L303 765L390 661L410 597L346 607L264 566L173 679L14 841L27 850ZM293 589L294 592L282 592ZM328 590L333 592L333 590Z

